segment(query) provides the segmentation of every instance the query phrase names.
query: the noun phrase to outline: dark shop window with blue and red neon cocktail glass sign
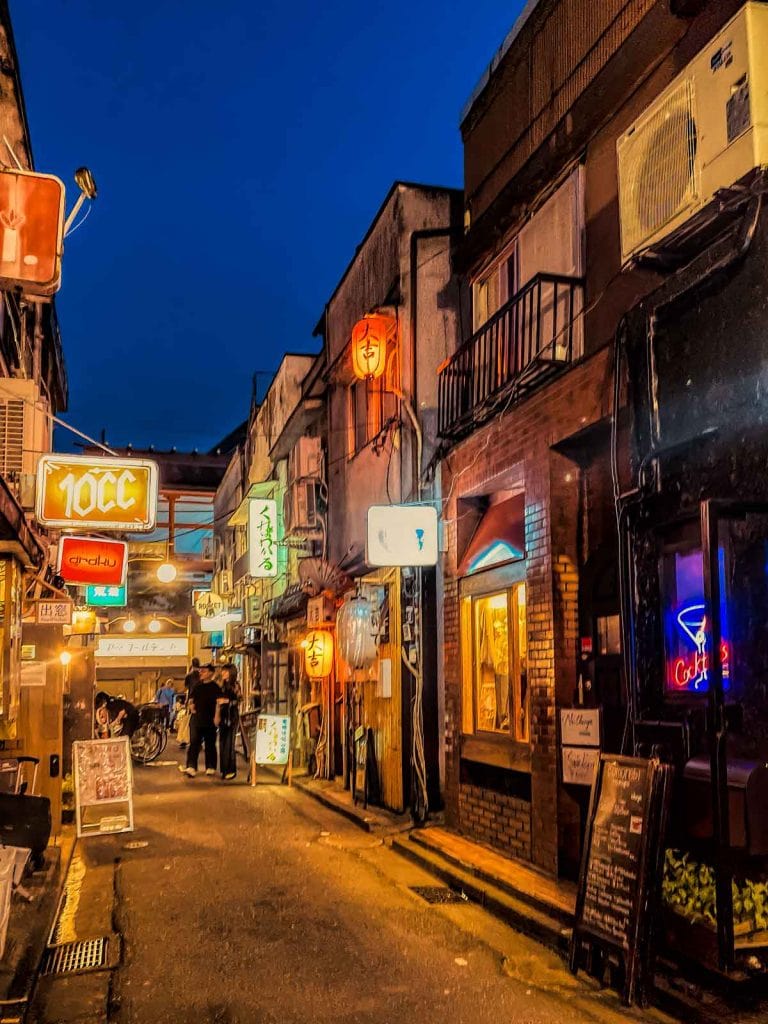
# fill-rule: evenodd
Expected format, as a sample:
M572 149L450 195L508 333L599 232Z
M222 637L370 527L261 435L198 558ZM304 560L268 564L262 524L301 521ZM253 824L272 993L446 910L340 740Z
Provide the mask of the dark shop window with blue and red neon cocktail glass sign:
M725 555L720 550L720 630L723 688L729 689L730 642L725 599ZM701 549L664 557L665 651L668 693L706 693L710 687L712 633L703 598Z

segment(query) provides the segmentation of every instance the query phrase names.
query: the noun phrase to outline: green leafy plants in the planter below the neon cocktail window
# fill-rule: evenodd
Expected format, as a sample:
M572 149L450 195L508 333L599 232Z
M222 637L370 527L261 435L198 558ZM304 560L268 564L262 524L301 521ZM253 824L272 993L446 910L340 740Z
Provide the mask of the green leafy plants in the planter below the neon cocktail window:
M734 881L733 922L751 930L768 928L768 882ZM689 853L667 850L662 898L676 913L708 925L717 924L715 871Z

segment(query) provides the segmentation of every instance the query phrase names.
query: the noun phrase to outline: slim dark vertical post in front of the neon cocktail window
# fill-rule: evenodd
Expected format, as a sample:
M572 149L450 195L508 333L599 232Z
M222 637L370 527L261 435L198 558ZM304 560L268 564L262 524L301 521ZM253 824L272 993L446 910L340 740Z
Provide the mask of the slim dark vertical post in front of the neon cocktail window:
M712 785L712 830L715 841L715 899L717 905L718 958L722 971L733 969L733 894L728 820L728 770L726 755L725 696L721 655L720 545L718 512L711 501L701 503L701 555L705 608L710 616L709 740ZM705 631L707 624L705 623Z

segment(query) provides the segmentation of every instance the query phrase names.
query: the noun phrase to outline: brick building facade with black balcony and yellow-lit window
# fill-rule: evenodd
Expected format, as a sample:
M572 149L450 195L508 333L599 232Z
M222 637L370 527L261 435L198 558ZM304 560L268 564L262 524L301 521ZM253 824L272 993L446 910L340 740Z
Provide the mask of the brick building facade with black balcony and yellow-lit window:
M529 3L462 120L471 323L438 410L446 818L551 874L577 873L588 792L563 783L559 710L599 706L603 750L631 746L614 368L670 265L627 258L617 143L741 6Z

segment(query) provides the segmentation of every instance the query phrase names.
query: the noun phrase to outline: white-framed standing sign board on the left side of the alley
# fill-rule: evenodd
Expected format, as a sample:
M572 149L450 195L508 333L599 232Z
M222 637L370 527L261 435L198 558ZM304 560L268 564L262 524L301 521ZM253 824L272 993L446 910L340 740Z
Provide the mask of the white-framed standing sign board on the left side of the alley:
M72 744L79 838L133 831L130 741L78 739Z

